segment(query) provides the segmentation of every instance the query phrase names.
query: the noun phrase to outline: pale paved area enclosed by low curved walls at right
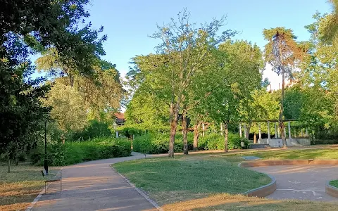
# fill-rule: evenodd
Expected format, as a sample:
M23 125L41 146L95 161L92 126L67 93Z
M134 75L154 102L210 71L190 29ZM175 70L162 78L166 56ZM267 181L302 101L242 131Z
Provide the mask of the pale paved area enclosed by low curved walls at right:
M338 166L275 165L250 167L275 177L277 190L266 198L337 201L325 193L327 181L338 178Z

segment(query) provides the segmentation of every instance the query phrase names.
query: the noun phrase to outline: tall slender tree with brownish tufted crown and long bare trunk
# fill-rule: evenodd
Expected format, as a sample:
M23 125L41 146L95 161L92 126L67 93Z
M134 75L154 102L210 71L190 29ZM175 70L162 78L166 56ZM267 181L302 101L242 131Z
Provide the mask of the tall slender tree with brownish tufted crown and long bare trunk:
M285 77L292 78L292 70L302 58L302 50L296 43L296 36L292 30L284 27L276 27L270 30L263 30L264 39L268 41L265 45L265 62L273 66L273 71L282 75L282 96L280 102L280 116L278 122L282 133L283 147L287 147L287 140L284 135L283 123L283 101L284 101L284 84Z

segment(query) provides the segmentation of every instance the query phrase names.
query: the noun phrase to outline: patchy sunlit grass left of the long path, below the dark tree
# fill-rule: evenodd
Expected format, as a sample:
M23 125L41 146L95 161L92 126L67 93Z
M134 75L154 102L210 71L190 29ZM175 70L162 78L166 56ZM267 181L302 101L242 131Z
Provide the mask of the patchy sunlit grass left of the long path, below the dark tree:
M19 163L11 166L9 174L7 168L0 164L0 210L25 210L44 187L43 167ZM51 168L48 177L53 177L57 171Z

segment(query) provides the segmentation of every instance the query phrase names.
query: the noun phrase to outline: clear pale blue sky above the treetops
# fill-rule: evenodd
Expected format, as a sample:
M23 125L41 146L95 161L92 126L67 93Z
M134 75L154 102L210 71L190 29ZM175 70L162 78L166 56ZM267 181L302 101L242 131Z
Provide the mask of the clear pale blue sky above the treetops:
M262 48L265 44L264 28L291 28L299 40L305 40L309 35L304 25L313 23L315 11L331 11L326 0L92 0L87 6L93 27L103 25L104 34L108 35L104 59L115 63L121 75L129 70L130 58L154 52L158 41L148 35L156 31L156 23L168 23L182 8L187 8L191 20L198 24L227 14L227 25L223 30L237 30L241 34L237 34L235 39L246 39ZM276 84L277 76L268 71L265 76Z

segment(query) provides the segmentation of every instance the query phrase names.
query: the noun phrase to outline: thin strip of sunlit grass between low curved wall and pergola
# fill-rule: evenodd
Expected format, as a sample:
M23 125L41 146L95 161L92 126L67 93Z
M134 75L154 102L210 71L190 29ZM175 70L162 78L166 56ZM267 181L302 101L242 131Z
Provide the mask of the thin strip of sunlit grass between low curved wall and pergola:
M280 150L280 151L255 151L255 152L245 152L236 155L221 155L230 157L240 156L256 156L265 160L285 160L285 159L317 159L317 160L331 160L338 159L338 149L303 149L303 150Z

